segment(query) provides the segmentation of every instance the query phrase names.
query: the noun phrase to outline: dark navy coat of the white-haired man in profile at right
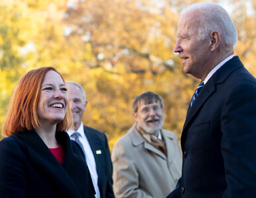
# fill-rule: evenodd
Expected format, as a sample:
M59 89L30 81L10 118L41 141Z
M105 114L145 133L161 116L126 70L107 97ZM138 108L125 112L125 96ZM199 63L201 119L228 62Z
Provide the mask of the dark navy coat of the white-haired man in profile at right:
M255 78L233 57L209 79L186 116L182 178L168 197L255 197L255 121Z

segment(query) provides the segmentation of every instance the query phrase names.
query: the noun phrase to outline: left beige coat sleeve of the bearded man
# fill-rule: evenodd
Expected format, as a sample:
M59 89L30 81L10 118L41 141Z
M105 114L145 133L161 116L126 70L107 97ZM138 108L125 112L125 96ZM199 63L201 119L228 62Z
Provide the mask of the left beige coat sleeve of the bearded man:
M112 150L113 190L116 198L153 198L139 188L139 173L129 148L119 141Z

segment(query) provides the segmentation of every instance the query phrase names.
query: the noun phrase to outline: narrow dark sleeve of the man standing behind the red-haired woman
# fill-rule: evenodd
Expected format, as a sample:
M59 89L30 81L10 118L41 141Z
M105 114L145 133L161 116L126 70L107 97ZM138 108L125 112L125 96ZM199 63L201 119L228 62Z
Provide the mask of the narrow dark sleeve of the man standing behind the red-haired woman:
M110 155L110 150L109 150L109 145L107 142L107 137L104 134L104 140L105 140L105 150L106 150L106 158L107 158L107 186L106 186L106 195L105 197L107 198L113 198L115 197L114 192L113 192L113 166L111 162L111 155Z

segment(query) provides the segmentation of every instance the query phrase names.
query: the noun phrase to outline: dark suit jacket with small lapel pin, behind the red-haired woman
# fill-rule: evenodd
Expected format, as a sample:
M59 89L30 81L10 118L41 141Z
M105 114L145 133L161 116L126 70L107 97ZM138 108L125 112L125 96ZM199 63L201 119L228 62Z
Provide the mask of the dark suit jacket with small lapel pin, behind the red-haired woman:
M113 167L105 133L84 126L84 133L90 143L97 169L97 185L101 198L115 197L113 193Z

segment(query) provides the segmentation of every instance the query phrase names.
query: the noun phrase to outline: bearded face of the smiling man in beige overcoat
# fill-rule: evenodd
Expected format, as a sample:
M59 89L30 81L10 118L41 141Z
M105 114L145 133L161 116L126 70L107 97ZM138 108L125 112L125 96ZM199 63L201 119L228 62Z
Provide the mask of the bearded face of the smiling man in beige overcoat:
M137 125L146 133L157 134L164 122L164 108L159 102L145 104L143 100L139 103L138 111L133 113Z

